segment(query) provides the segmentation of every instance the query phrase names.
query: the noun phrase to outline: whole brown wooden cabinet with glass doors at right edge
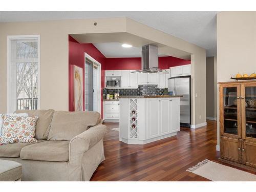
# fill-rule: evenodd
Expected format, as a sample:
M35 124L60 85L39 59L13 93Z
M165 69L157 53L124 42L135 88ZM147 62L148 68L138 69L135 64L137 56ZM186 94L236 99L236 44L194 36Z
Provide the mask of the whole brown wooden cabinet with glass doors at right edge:
M256 168L256 81L220 84L220 160Z

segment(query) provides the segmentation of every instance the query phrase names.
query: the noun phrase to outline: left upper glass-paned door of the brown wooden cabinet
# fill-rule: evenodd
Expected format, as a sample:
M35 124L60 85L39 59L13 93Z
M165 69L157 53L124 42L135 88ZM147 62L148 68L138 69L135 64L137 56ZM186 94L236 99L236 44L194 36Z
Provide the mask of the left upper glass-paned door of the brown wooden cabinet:
M221 135L229 138L241 138L240 85L224 85L220 89Z

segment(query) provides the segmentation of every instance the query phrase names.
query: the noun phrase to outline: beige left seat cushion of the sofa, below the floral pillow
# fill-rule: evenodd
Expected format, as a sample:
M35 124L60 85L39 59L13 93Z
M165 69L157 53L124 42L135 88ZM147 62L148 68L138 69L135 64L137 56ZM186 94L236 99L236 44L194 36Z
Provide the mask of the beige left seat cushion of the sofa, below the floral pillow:
M42 141L44 140L38 140L37 143ZM12 143L0 145L0 157L19 157L22 148L31 144L33 143Z

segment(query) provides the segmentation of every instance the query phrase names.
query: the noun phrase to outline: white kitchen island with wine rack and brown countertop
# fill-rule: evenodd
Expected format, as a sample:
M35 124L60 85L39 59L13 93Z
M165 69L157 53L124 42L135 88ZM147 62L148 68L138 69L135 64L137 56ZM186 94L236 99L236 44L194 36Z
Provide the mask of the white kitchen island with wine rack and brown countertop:
M177 135L180 97L119 96L119 140L127 144L146 144Z

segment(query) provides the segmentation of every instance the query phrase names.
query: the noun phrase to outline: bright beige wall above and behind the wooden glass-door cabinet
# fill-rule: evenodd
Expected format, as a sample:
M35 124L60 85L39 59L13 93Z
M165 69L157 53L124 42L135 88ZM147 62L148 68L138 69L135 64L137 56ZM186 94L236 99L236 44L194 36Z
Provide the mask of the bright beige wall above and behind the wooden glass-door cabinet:
M256 12L217 14L217 80L231 81L236 73L256 71ZM219 103L219 98L218 98ZM219 104L218 104L219 108ZM219 112L219 111L218 111ZM219 113L218 113L219 119ZM219 144L219 124L218 124Z

